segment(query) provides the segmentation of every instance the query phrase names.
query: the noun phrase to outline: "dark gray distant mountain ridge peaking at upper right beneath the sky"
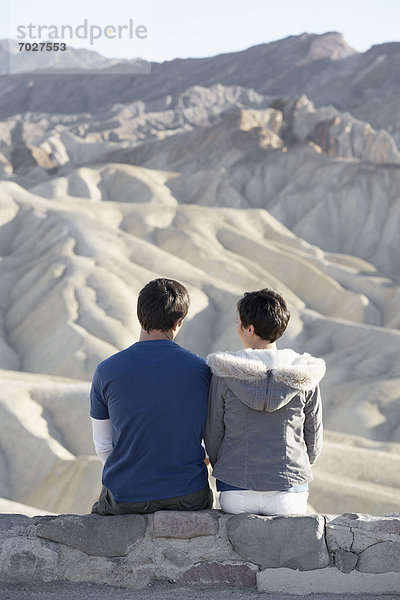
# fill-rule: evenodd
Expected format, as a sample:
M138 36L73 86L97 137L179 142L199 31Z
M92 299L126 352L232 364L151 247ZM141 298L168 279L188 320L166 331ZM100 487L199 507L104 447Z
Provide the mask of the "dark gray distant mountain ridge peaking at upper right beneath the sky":
M0 119L27 110L95 114L115 104L160 102L166 96L173 107L194 85L222 84L272 98L306 94L316 107L333 104L374 128L387 129L400 145L399 42L357 53L340 33L302 34L241 52L152 63L151 75L112 77L111 83L96 74L4 75Z

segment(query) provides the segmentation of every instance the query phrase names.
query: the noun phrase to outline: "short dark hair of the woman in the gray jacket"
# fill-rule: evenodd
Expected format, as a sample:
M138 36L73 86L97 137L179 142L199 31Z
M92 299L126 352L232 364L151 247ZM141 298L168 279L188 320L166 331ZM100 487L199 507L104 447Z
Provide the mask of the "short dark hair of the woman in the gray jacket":
M256 335L271 343L281 337L290 319L282 296L268 288L246 292L237 309L243 327L253 325Z

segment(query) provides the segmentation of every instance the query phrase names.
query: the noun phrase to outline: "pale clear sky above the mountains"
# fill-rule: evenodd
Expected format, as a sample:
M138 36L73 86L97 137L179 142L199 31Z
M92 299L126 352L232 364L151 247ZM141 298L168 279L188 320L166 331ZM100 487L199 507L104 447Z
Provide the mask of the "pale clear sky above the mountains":
M2 6L0 39L17 38L18 25L75 28L87 19L88 26L108 25L118 31L131 20L133 31L138 25L147 28L146 39L143 30L141 39L130 38L125 27L121 39L102 34L92 44L89 39L66 41L108 57L142 56L160 62L244 50L304 32L340 31L358 51L400 41L400 0L68 0L63 5L54 0L2 0Z

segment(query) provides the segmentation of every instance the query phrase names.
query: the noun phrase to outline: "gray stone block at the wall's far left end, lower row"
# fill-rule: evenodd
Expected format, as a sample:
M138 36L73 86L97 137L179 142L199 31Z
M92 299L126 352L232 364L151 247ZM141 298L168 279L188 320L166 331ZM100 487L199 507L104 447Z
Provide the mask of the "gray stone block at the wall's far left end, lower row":
M27 537L9 538L1 544L0 579L51 581L57 578L57 566L58 552L55 544Z

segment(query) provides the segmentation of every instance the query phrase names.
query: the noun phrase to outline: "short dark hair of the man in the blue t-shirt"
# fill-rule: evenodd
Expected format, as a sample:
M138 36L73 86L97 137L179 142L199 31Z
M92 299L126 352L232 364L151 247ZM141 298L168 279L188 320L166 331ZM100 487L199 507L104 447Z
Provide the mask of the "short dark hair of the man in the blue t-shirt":
M139 292L137 316L147 333L152 329L170 331L177 319L189 310L187 289L174 279L153 279Z

